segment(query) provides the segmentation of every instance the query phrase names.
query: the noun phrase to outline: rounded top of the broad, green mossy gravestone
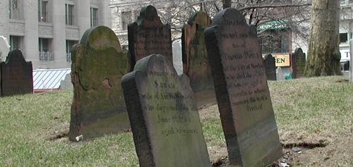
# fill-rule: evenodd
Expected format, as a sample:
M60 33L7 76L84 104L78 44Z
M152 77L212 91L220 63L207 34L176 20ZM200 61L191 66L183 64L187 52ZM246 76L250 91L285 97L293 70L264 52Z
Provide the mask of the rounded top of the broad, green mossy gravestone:
M105 26L91 27L86 30L80 44L94 49L114 47L117 51L121 51L118 37L112 29Z

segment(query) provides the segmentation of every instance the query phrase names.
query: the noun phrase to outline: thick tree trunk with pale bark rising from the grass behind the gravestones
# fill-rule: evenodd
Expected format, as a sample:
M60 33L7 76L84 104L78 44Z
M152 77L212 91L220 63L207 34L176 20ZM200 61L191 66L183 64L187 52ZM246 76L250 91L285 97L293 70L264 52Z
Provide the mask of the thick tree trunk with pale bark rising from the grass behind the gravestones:
M313 0L304 76L342 75L339 22L340 0Z

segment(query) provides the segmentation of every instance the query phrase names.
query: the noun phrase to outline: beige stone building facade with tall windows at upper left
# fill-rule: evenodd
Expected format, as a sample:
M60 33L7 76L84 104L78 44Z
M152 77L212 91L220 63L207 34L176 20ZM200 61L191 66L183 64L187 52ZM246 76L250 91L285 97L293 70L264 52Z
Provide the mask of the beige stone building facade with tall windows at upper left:
M110 0L0 0L0 51L20 49L33 68L70 68L85 30L111 27ZM8 47L9 46L9 47Z

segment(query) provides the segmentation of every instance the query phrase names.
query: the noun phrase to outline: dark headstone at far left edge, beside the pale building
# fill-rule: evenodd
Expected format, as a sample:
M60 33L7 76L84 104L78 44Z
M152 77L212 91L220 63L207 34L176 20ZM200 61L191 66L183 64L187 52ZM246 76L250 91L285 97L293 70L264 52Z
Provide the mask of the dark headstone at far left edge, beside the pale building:
M25 61L20 50L8 52L5 62L1 62L1 96L33 93L32 62Z

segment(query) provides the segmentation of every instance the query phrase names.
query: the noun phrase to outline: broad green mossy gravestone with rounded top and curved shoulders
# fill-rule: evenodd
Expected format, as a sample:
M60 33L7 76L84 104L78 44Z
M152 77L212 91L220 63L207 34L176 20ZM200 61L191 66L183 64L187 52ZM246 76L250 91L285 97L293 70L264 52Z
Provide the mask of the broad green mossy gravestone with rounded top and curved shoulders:
M128 73L128 51L109 27L85 31L71 49L73 102L68 137L72 141L128 130L121 77Z

